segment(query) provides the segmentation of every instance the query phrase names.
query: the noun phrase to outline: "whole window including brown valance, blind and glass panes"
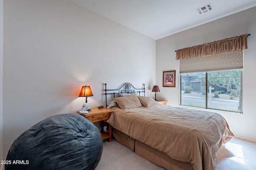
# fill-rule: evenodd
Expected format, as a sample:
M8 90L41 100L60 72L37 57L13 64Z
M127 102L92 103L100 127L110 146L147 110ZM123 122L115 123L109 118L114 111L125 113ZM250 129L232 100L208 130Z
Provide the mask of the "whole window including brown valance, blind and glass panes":
M242 113L242 69L248 35L176 51L181 105Z

